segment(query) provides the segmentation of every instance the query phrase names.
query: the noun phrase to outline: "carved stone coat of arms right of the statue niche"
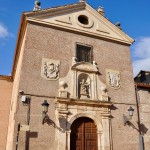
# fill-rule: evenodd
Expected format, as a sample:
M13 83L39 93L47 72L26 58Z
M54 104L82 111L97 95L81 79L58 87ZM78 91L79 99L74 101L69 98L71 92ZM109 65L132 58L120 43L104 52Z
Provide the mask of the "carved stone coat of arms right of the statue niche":
M120 88L120 72L117 70L107 70L107 84L114 89Z

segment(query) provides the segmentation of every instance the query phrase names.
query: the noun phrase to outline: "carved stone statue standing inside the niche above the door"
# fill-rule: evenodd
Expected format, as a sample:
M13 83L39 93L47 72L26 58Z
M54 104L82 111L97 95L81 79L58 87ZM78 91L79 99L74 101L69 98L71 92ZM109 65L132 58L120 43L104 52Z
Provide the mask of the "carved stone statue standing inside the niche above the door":
M85 79L80 82L80 98L89 98L89 83Z

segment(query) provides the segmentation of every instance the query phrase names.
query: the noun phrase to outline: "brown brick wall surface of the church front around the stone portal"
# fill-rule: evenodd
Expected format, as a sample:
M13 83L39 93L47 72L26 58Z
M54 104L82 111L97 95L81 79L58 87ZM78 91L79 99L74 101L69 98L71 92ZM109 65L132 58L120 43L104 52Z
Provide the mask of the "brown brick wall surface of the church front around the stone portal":
M41 150L41 147L44 146L45 150L54 150L54 130L58 130L57 128L54 129L52 125L41 125L41 102L45 100L45 97L58 96L59 87L59 80L47 81L41 77L42 57L60 60L60 77L65 77L71 66L72 57L75 57L77 42L93 46L94 60L97 62L100 72L99 78L105 84L106 69L120 71L121 88L114 90L107 85L108 94L116 107L115 110L112 110L112 117L114 118L111 122L112 145L115 150L120 150L122 148L124 148L124 150L137 150L139 145L138 132L131 127L124 126L122 121L123 113L127 114L127 109L131 105L135 109L133 123L136 125L137 122L129 46L32 24L28 24L27 28L20 83L18 87L18 89L23 90L26 94L34 95L34 97L31 97L30 132L35 133L35 136L33 135L32 137L31 135L28 147L30 147L31 150ZM52 104L49 113L55 123L55 109L53 107L55 100L50 98L47 98L47 100ZM26 114L26 106L22 105L18 99L17 115L15 116L16 123L20 122L25 124ZM27 136L24 134L25 133L20 134L19 149L24 149L24 142L27 140ZM15 138L16 134L14 139ZM118 145L120 139L123 140L120 141L120 144Z

